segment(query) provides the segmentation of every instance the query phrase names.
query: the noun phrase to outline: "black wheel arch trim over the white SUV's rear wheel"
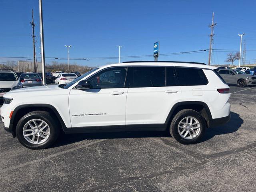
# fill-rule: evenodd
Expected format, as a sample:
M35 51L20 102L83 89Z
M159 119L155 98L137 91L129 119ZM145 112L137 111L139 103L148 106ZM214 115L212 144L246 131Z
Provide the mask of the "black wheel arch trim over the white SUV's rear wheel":
M165 121L165 124L167 125L167 127L166 127L167 129L170 127L170 123L171 123L172 119L174 118L174 116L180 110L183 110L183 109L192 109L192 110L199 112L205 119L207 127L210 127L210 122L212 120L212 114L211 114L211 111L210 111L208 105L201 101L185 101L185 102L176 103L170 110L170 112L166 118L166 121Z

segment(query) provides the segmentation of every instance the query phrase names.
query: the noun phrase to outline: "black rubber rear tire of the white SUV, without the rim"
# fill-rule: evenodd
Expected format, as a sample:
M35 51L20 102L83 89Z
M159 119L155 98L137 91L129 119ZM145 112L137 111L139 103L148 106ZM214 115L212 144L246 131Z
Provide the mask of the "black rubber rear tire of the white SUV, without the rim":
M180 129L179 123L182 119L186 117L196 118L200 123L200 129L198 131L198 135L195 138L185 139L179 134L179 130L178 130ZM204 118L200 115L200 113L192 109L183 109L183 110L180 110L172 119L172 122L170 125L170 134L173 138L175 138L181 144L195 144L202 139L202 137L204 136L205 129L206 129L206 122Z

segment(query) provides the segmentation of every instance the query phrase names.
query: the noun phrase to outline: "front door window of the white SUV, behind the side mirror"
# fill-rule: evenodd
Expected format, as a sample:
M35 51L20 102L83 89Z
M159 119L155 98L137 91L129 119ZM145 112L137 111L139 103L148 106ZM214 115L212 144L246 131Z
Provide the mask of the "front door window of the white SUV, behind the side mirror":
M126 78L127 68L115 67L103 70L89 78L92 88L122 88Z

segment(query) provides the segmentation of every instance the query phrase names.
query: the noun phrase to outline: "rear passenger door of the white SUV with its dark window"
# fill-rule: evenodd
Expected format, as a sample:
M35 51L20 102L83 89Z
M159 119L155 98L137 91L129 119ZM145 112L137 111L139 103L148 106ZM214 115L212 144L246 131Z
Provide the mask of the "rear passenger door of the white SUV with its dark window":
M126 126L163 124L172 106L182 101L172 67L134 66L128 78Z

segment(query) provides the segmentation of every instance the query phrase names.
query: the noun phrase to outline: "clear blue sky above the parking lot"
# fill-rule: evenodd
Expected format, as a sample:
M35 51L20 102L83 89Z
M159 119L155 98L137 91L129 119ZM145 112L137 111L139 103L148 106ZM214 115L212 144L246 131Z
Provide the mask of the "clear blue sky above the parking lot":
M46 57L118 57L152 55L131 60L154 60L153 44L160 41L159 60L208 62L208 52L161 56L161 54L209 48L212 12L214 49L239 49L246 33L246 49L256 50L255 0L43 0ZM38 0L0 1L0 57L33 56L31 9L34 9L37 56L40 56ZM231 51L229 51L231 52ZM234 51L236 52L236 51ZM224 62L228 52L213 52L212 64ZM256 59L247 51L246 60ZM17 58L0 58L19 60ZM21 59L22 60L22 59ZM46 60L51 63L52 60ZM67 62L67 60L57 60ZM109 60L70 60L81 65L100 66ZM237 63L237 61L236 61Z

